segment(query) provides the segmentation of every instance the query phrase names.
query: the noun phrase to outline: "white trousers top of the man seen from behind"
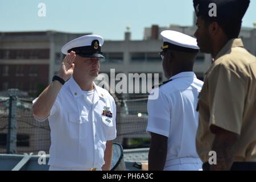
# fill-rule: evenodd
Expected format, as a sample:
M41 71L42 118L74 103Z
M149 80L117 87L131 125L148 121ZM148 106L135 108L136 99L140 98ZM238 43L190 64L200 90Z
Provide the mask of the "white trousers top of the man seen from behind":
M164 171L203 171L199 158L177 158L166 161Z

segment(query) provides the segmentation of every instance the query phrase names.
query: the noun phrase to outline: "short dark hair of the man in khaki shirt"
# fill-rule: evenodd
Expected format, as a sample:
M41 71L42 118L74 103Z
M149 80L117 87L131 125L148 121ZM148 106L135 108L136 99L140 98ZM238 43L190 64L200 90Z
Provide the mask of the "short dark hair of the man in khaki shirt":
M238 38L241 27L242 27L242 21L238 20L214 20L214 19L209 19L205 16L201 16L201 18L204 19L205 24L209 26L210 23L212 22L217 22L218 25L222 28L224 33L226 34L228 39L236 39Z

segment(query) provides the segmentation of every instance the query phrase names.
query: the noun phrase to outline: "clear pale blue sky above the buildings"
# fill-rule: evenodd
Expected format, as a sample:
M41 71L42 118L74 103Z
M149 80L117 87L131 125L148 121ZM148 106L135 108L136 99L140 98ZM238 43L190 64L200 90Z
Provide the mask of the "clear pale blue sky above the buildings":
M39 3L46 5L46 16L38 15ZM242 26L253 27L254 22L256 0L251 0ZM54 30L123 40L130 27L131 39L141 40L144 28L152 24L192 26L192 0L0 0L2 32Z

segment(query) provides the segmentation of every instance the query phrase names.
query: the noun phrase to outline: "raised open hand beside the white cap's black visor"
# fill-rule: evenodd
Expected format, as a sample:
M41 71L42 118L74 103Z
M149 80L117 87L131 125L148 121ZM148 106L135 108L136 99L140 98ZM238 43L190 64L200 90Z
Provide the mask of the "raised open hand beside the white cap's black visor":
M63 78L63 80L67 81L72 75L75 68L75 64L73 61L75 60L76 52L71 51L68 53L64 60L61 63L59 77Z

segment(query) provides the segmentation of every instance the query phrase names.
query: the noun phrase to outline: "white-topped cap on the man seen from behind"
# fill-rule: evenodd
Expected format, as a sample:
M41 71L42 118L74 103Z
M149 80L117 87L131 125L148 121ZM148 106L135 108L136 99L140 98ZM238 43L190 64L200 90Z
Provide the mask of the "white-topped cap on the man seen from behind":
M172 49L184 52L199 52L195 38L172 30L164 30L160 34L163 38L164 49Z

